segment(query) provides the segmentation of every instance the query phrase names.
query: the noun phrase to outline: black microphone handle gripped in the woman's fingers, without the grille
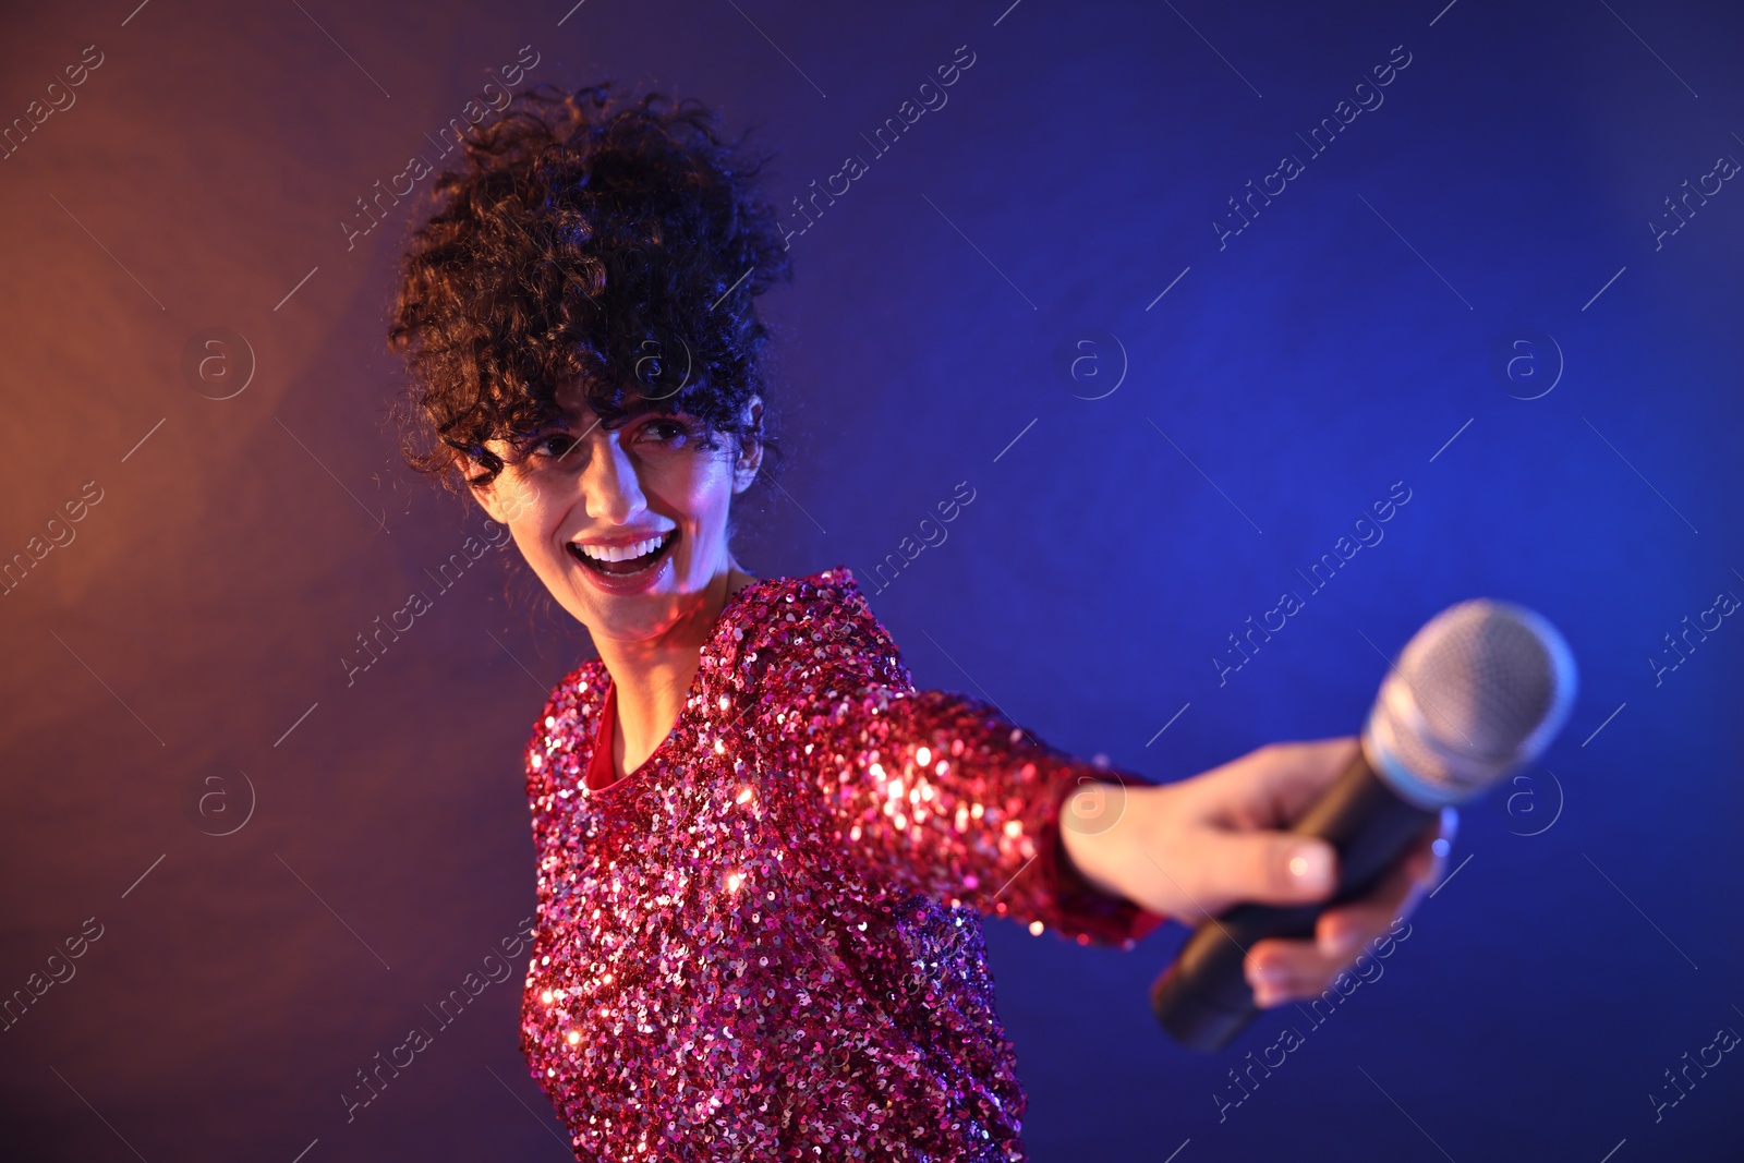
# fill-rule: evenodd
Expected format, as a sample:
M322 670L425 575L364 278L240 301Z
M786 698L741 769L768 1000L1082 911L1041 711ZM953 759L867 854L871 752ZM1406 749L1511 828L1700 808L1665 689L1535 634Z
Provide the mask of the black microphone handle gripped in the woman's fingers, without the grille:
M1254 942L1313 936L1322 912L1367 893L1439 820L1437 809L1400 799L1359 750L1338 781L1291 826L1338 849L1336 893L1313 905L1235 905L1202 922L1151 985L1156 1020L1184 1046L1223 1050L1259 1013L1242 973Z

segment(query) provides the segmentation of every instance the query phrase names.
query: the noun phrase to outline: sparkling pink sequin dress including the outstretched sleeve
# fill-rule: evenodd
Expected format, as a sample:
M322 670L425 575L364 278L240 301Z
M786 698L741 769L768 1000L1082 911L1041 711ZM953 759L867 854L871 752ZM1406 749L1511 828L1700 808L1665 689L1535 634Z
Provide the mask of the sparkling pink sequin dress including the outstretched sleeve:
M527 746L521 1050L576 1158L1022 1160L980 914L1128 947L1163 921L1059 847L1113 774L916 690L846 567L729 595L616 781L609 694L582 663Z

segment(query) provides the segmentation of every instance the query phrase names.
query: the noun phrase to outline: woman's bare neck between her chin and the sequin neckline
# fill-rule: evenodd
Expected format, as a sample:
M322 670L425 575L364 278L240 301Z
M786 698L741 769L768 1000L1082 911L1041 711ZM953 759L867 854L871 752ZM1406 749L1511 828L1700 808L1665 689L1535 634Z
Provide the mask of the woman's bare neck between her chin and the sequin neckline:
M729 560L698 602L659 638L617 642L600 638L600 661L617 690L617 729L612 731L612 760L619 776L642 765L678 724L684 696L696 678L703 643L720 617L727 595L755 581Z

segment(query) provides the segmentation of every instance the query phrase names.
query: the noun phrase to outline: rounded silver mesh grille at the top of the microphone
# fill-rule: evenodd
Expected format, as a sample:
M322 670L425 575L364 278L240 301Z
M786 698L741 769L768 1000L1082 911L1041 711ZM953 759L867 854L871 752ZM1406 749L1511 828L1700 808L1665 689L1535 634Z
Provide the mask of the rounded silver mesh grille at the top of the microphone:
M1406 799L1458 804L1536 760L1573 699L1575 657L1563 635L1524 607L1474 598L1406 643L1362 745Z

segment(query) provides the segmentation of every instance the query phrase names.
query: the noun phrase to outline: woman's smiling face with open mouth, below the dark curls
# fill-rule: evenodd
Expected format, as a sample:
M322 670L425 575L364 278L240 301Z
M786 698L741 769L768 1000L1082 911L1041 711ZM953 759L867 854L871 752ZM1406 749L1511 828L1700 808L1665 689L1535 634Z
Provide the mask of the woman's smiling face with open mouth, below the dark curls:
M595 640L657 640L698 617L712 582L736 568L727 509L757 476L762 446L722 432L708 448L692 418L652 408L607 431L579 389L560 391L558 405L562 418L523 455L487 445L506 464L473 495ZM743 417L753 431L760 411L753 396Z

